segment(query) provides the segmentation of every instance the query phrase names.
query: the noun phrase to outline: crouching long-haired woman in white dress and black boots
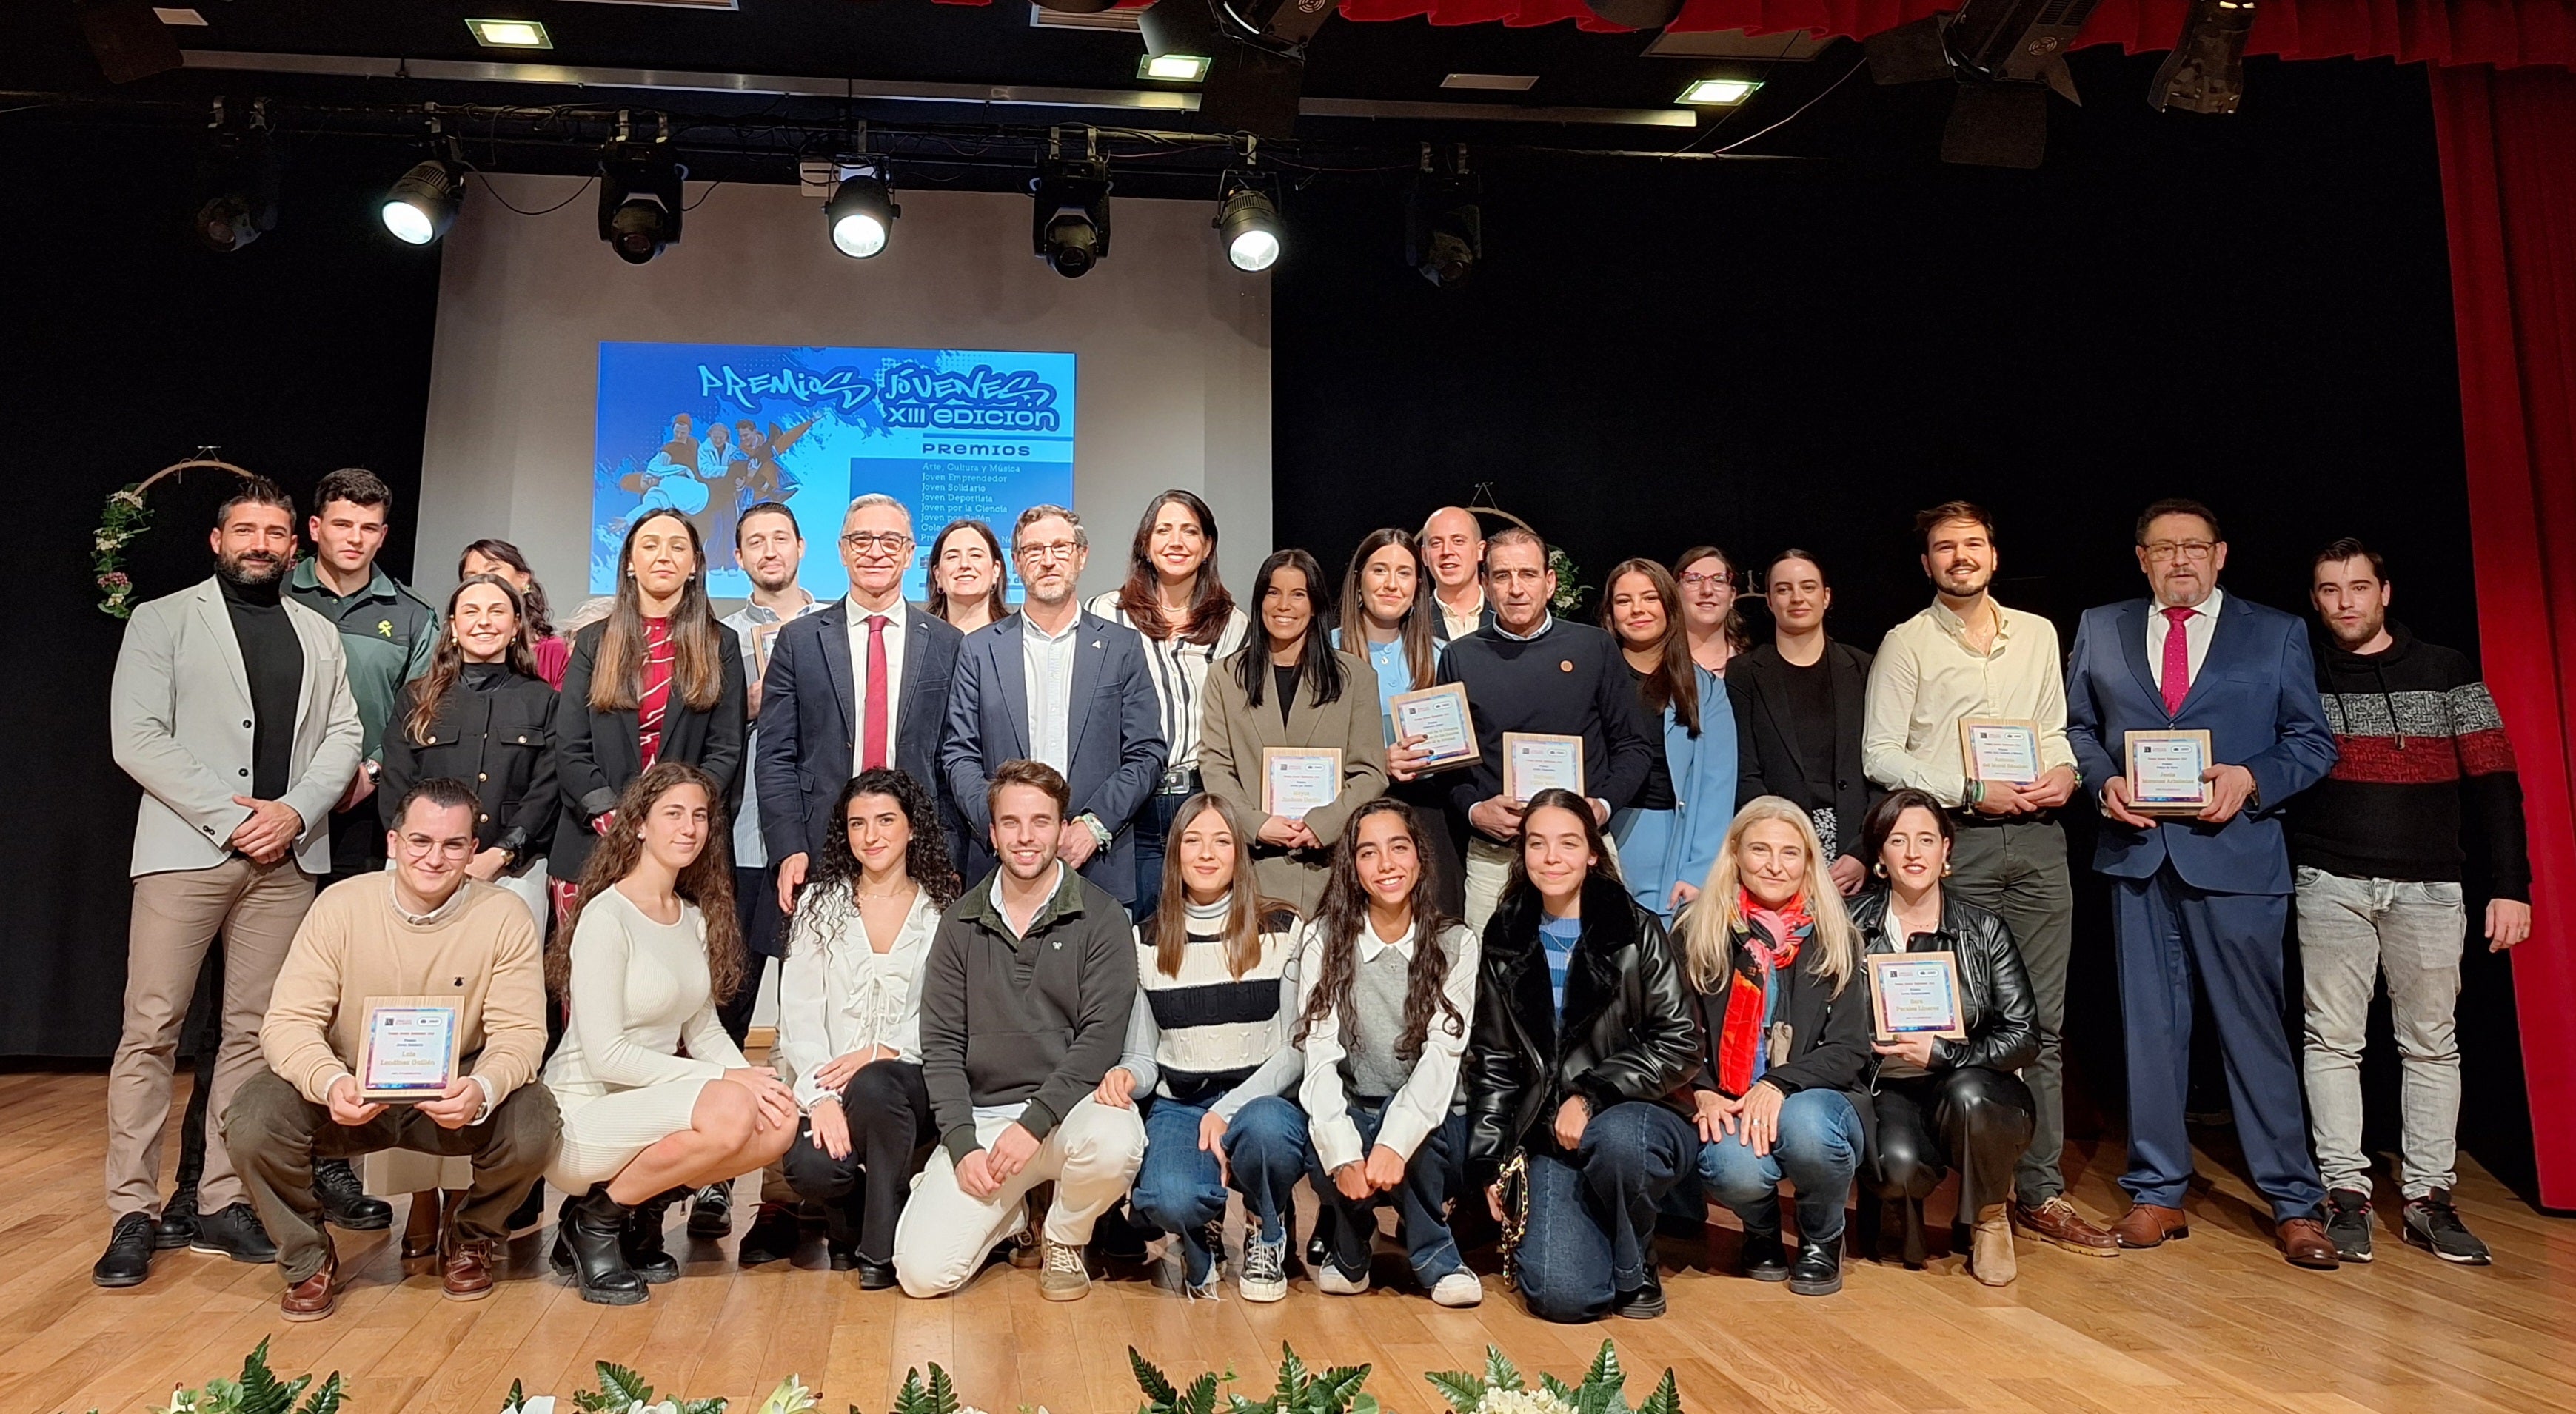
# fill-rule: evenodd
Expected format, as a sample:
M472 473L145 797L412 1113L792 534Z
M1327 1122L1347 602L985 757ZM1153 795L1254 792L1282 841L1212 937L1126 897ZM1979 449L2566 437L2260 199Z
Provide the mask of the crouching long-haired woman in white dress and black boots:
M770 1164L796 1136L796 1097L716 1020L744 974L719 798L685 762L626 786L546 950L546 981L572 1002L546 1064L564 1113L546 1182L577 1195L554 1262L600 1306L680 1275L662 1249L675 1198Z

